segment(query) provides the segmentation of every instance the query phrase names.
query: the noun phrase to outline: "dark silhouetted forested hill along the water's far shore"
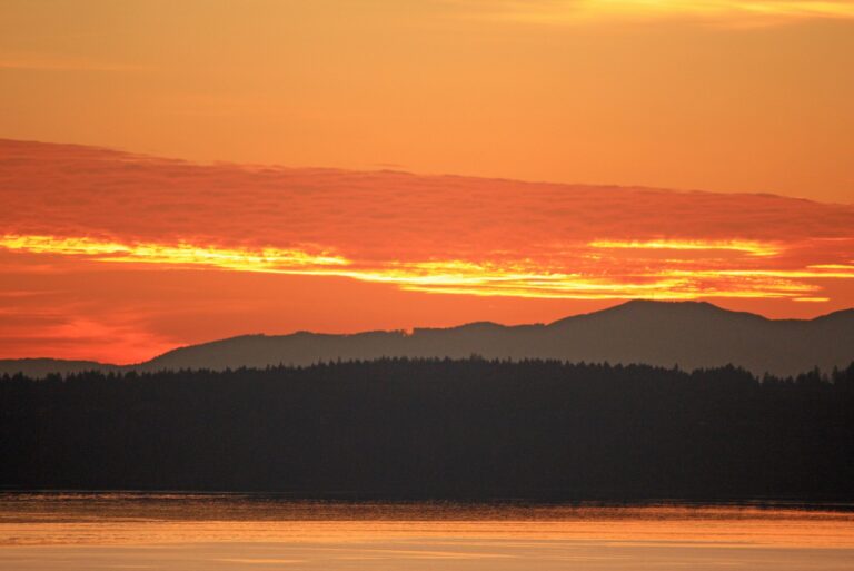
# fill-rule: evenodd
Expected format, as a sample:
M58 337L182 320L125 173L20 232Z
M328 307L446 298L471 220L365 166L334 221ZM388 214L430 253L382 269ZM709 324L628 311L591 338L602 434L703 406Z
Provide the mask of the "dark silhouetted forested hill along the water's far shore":
M346 499L854 500L854 364L379 360L0 377L0 485Z

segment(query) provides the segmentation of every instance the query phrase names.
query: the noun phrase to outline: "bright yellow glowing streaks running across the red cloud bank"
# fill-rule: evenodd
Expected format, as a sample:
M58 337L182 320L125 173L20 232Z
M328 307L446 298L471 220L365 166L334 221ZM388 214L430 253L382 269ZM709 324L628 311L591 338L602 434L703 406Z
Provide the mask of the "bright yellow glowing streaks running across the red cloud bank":
M747 240L648 240L593 242L596 249L745 253L748 256L777 256L779 246ZM826 264L803 269L739 267L744 260L736 256L696 260L644 260L627 264L625 259L595 256L595 264L576 262L582 273L565 273L543 267L537 260L469 262L469 260L350 260L340 256L312 255L304 250L278 248L226 249L192 244L156 243L118 244L85 237L0 236L0 248L33 254L82 256L95 262L125 264L157 264L161 267L211 267L232 272L335 276L363 282L394 284L404 291L453 295L507 296L558 299L714 299L714 298L788 298L795 302L828 302L811 296L821 285L803 279L852 279L854 266ZM578 246L576 255L589 258ZM722 266L722 263L724 264ZM694 266L685 269L685 265ZM751 264L744 264L749 266ZM586 267L585 267L586 266ZM714 267L714 269L707 269Z

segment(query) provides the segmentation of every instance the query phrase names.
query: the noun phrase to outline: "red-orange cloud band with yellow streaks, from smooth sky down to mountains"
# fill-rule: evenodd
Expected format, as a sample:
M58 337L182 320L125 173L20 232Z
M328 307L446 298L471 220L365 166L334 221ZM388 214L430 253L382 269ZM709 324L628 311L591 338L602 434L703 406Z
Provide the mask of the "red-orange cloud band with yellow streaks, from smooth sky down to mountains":
M279 331L395 327L404 315L417 318L407 304L430 308L429 325L451 324L471 314L448 307L473 299L493 307L483 315L487 306L470 305L481 312L474 315L504 321L639 297L712 299L768 315L854 305L850 205L197 165L9 140L0 157L0 339L11 347L0 356L128 361L256 323L278 323ZM257 276L251 289L240 275ZM113 293L98 292L98 280ZM171 293L159 289L166 284ZM270 304L281 302L266 297L322 305L311 296L324 288L371 307L370 319L336 318L330 307L277 315ZM526 318L523 307L542 311ZM173 323L170 315L183 311L205 321ZM328 319L307 317L312 312ZM261 314L269 321L246 317ZM92 353L105 337L116 346ZM122 353L126 338L138 348ZM73 348L58 351L63 339Z

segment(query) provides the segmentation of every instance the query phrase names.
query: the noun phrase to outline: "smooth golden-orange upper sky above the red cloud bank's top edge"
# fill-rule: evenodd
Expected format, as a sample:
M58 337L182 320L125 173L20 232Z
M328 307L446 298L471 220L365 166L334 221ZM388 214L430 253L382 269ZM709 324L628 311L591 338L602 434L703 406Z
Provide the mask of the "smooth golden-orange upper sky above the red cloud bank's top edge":
M854 201L852 0L6 0L0 137Z

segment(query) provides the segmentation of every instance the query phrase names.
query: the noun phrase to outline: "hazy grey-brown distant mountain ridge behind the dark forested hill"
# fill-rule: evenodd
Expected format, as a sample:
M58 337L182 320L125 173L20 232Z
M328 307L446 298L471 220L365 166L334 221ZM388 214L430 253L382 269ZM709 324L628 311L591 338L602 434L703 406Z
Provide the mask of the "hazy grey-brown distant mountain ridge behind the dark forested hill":
M706 302L632 301L544 325L489 322L449 328L347 335L298 332L242 335L169 351L138 365L58 360L4 360L0 373L43 376L86 368L159 371L310 365L380 357L555 358L569 362L678 365L685 370L733 364L755 374L830 371L854 361L854 309L814 319L768 319Z

